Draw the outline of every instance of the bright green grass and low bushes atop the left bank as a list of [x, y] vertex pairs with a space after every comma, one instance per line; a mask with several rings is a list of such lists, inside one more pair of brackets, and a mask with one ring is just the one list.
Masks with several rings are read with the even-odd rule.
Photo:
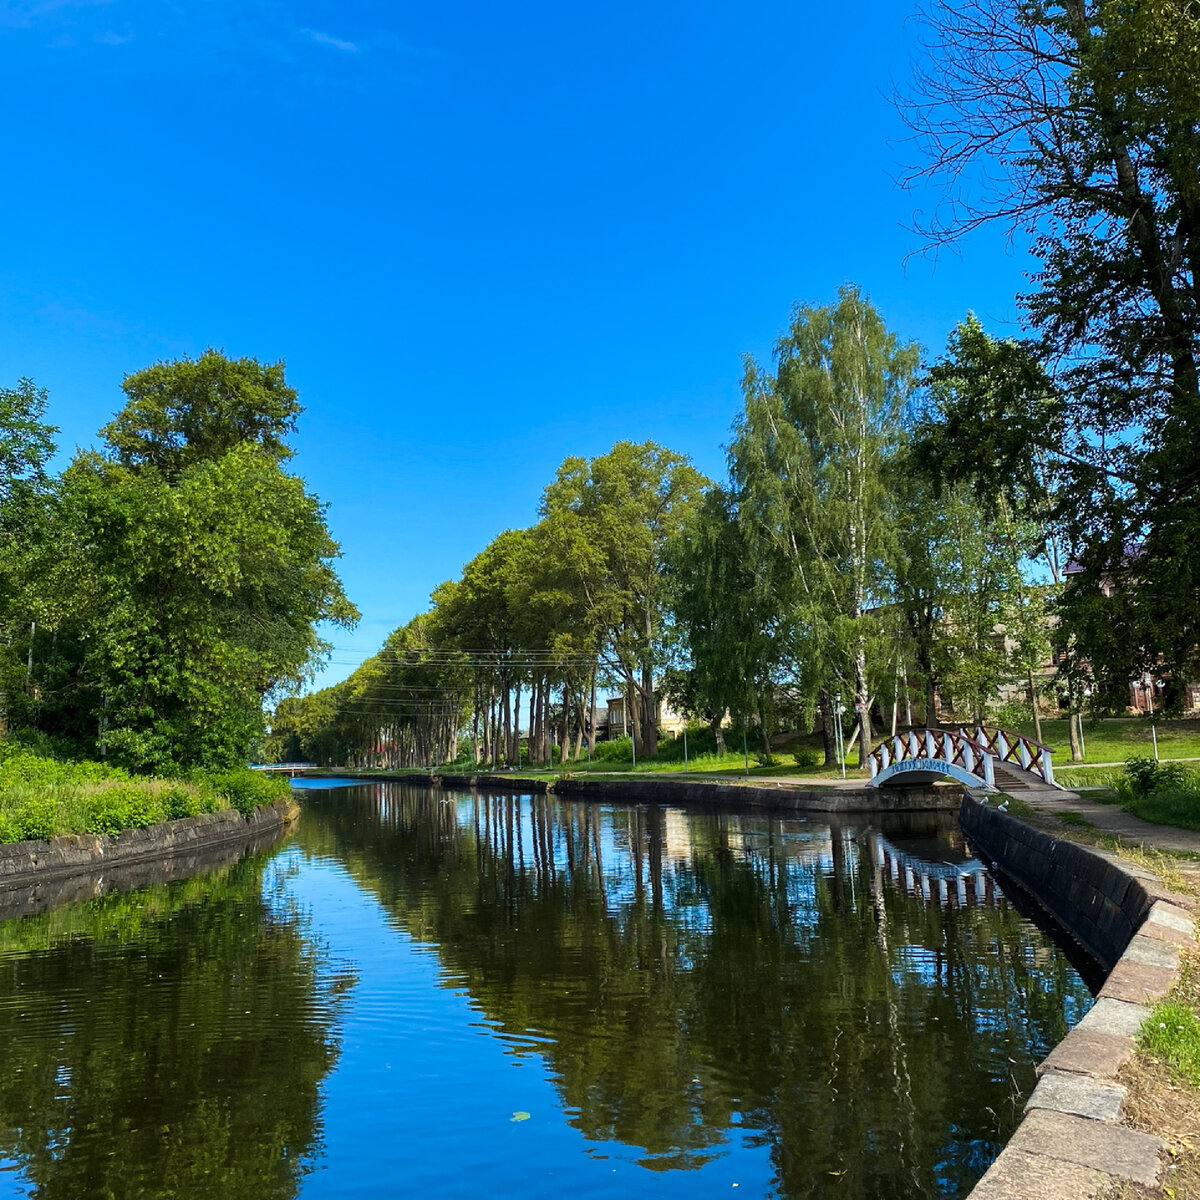
[[60, 762], [0, 742], [0, 844], [119, 834], [236, 809], [247, 820], [290, 797], [288, 781], [246, 768], [142, 778], [98, 762]]

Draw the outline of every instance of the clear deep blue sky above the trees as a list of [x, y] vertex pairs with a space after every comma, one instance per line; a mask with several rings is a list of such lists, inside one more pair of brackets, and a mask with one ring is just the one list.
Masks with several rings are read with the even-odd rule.
[[709, 474], [740, 355], [860, 284], [944, 344], [1014, 331], [1001, 230], [905, 262], [904, 0], [0, 0], [0, 383], [66, 450], [121, 377], [284, 359], [294, 467], [362, 610], [349, 673], [568, 454]]

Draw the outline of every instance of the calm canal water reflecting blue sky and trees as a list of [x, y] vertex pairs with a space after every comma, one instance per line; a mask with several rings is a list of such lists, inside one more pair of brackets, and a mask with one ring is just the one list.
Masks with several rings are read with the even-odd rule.
[[0, 1195], [959, 1196], [1091, 1003], [944, 818], [301, 799], [0, 923]]

